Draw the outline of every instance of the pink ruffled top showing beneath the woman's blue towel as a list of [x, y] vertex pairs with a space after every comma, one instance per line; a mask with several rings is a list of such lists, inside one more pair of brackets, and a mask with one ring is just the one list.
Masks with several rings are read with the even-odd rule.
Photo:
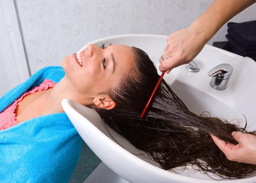
[[38, 91], [47, 90], [50, 87], [54, 87], [56, 84], [50, 80], [44, 79], [39, 86], [33, 87], [32, 90], [26, 91], [20, 98], [15, 100], [9, 107], [0, 113], [0, 130], [5, 130], [9, 127], [12, 127], [16, 124], [19, 124], [16, 118], [15, 109], [19, 101], [23, 99], [23, 97], [36, 93]]

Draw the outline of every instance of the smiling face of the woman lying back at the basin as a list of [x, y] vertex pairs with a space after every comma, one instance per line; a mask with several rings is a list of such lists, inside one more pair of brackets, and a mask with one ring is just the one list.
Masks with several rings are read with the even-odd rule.
[[108, 92], [134, 67], [132, 48], [126, 45], [88, 45], [80, 55], [82, 65], [73, 54], [63, 59], [62, 67], [76, 93], [81, 95]]

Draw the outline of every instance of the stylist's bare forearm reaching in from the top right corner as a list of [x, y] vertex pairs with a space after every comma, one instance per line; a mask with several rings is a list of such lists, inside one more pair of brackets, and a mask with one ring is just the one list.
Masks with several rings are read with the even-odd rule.
[[227, 21], [255, 2], [256, 0], [215, 0], [190, 27], [200, 32], [207, 43]]

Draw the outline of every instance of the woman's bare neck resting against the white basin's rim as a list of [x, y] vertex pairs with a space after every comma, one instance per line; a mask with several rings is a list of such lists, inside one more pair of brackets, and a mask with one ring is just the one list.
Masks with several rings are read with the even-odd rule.
[[61, 79], [61, 81], [45, 93], [45, 95], [46, 101], [44, 106], [47, 110], [51, 110], [52, 113], [64, 112], [61, 106], [61, 101], [63, 99], [71, 99], [87, 107], [90, 107], [93, 104], [93, 98], [73, 90], [72, 83], [70, 83], [66, 77]]

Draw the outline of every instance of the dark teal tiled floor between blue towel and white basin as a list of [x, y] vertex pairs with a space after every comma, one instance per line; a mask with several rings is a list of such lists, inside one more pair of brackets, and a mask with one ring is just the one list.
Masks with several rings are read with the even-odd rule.
[[99, 163], [101, 163], [101, 160], [83, 141], [79, 161], [68, 183], [83, 183]]

